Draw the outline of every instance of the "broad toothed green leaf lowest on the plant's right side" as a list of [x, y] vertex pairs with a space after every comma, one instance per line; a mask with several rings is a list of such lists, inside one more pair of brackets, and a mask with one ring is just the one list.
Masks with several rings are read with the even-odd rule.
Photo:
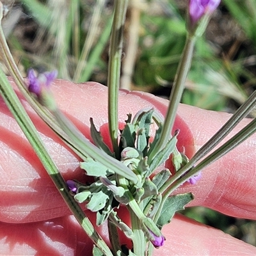
[[194, 199], [192, 193], [179, 194], [170, 196], [166, 199], [163, 209], [157, 220], [157, 226], [161, 229], [163, 225], [170, 223], [175, 212], [184, 210], [184, 206]]

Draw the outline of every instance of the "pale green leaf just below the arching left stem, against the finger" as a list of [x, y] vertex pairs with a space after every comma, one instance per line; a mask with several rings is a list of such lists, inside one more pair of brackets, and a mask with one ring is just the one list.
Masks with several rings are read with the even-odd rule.
[[106, 166], [96, 162], [91, 157], [88, 157], [86, 162], [80, 163], [80, 167], [86, 171], [88, 176], [100, 177], [107, 176], [109, 173], [113, 173], [109, 172], [109, 169]]

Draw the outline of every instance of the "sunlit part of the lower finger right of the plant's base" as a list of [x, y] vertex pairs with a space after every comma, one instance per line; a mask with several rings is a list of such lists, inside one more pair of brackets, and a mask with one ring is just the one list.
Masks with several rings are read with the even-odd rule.
[[154, 255], [255, 255], [256, 248], [221, 230], [177, 215], [163, 227], [166, 243]]

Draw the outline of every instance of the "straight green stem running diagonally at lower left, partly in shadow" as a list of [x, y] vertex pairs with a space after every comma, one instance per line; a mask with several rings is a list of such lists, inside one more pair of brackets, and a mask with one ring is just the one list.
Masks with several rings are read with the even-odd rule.
[[103, 253], [106, 253], [106, 255], [112, 255], [111, 251], [108, 248], [108, 245], [99, 236], [99, 234], [97, 234], [97, 232], [93, 228], [92, 223], [86, 217], [79, 204], [77, 204], [77, 202], [74, 200], [74, 197], [70, 195], [65, 180], [63, 179], [60, 172], [58, 171], [58, 168], [49, 156], [47, 150], [44, 147], [44, 144], [40, 139], [40, 136], [38, 135], [38, 132], [36, 131], [35, 126], [31, 122], [28, 114], [20, 103], [19, 98], [17, 97], [12, 86], [6, 79], [6, 76], [1, 68], [0, 94], [1, 97], [3, 97], [4, 99], [4, 102], [8, 106], [8, 109], [10, 109], [15, 120], [20, 125], [20, 128], [26, 135], [26, 138], [28, 138], [29, 143], [31, 143], [33, 149], [36, 152], [36, 155], [44, 165], [56, 188], [58, 188], [58, 191], [70, 208], [70, 211], [72, 211], [77, 221], [83, 227], [86, 234], [88, 234], [88, 236], [92, 239], [93, 243], [95, 243]]

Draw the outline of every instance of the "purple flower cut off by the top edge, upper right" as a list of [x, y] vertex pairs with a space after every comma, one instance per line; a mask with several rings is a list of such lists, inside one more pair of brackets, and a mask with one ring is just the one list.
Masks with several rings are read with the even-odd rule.
[[221, 0], [190, 0], [189, 1], [189, 20], [190, 26], [195, 26], [205, 14], [211, 15], [218, 7]]

